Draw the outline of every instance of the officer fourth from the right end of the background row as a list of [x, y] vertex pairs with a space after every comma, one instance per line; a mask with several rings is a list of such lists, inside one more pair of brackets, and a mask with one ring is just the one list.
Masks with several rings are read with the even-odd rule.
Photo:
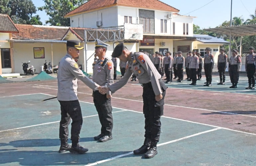
[[214, 57], [210, 53], [211, 48], [206, 47], [206, 54], [203, 58], [203, 69], [206, 77], [206, 84], [203, 86], [211, 86], [212, 81], [212, 69], [214, 67]]

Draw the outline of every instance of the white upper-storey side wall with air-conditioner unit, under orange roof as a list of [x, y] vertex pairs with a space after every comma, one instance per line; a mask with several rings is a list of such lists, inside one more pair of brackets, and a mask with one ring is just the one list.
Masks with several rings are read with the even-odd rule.
[[[101, 13], [102, 13], [102, 20], [101, 20]], [[71, 27], [78, 27], [78, 18], [79, 18], [79, 27], [81, 28], [98, 28], [96, 26], [97, 21], [102, 21], [101, 27], [117, 26], [118, 24], [117, 6], [70, 17]]]

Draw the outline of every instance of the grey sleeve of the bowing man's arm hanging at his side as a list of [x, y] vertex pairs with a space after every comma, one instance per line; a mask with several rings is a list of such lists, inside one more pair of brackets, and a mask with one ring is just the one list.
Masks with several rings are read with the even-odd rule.
[[153, 70], [154, 69], [154, 65], [150, 61], [148, 56], [145, 55], [145, 54], [140, 54], [139, 56], [141, 56], [141, 55], [143, 56], [143, 59], [142, 58], [141, 59], [137, 59], [137, 62], [139, 62], [139, 64], [147, 71], [155, 95], [162, 94], [162, 89], [161, 89], [159, 80], [156, 77], [159, 73], [157, 72], [157, 70]]

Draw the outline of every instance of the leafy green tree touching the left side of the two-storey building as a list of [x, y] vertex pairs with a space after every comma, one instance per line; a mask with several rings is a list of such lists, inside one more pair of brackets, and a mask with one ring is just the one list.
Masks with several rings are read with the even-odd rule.
[[38, 10], [47, 13], [50, 16], [46, 24], [52, 26], [70, 26], [69, 19], [65, 19], [64, 16], [87, 2], [88, 0], [44, 0], [45, 6], [39, 7]]

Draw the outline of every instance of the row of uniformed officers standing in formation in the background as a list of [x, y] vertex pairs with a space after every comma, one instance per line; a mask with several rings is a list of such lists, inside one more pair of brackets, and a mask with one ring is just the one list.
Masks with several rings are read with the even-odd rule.
[[[175, 52], [175, 56], [172, 57], [170, 51], [166, 52], [166, 56], [163, 57], [162, 53], [158, 51], [153, 54], [151, 60], [158, 70], [159, 74], [163, 77], [166, 75], [166, 82], [173, 82], [174, 79], [177, 82], [182, 83], [184, 77], [184, 69], [186, 69], [187, 78], [185, 80], [192, 81], [190, 85], [196, 85], [197, 80], [202, 79], [202, 69], [204, 69], [206, 82], [203, 86], [211, 86], [212, 82], [212, 70], [214, 67], [214, 56], [210, 52], [211, 48], [206, 47], [206, 54], [204, 58], [201, 57], [200, 52], [189, 51], [187, 57], [182, 56], [182, 51]], [[239, 81], [239, 71], [241, 71], [241, 55], [238, 53], [238, 49], [232, 50], [232, 55], [228, 59], [224, 53], [225, 49], [220, 48], [220, 54], [218, 55], [217, 69], [219, 73], [220, 82], [218, 85], [224, 85], [226, 81], [226, 68], [228, 68], [230, 82], [232, 85], [229, 88], [237, 88]], [[248, 77], [249, 86], [245, 89], [255, 89], [255, 61], [256, 55], [254, 53], [254, 47], [249, 47], [249, 54], [245, 59], [245, 70]], [[163, 68], [162, 68], [163, 67]]]

